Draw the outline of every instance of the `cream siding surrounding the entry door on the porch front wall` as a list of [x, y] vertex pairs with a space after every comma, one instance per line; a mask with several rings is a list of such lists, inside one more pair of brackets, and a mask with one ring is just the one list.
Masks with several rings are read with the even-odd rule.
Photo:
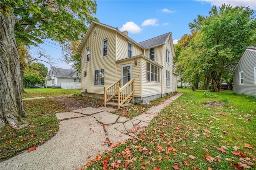
[[124, 64], [130, 64], [132, 63], [132, 78], [134, 78], [134, 95], [136, 96], [141, 96], [141, 88], [140, 88], [140, 83], [141, 83], [141, 71], [140, 71], [140, 66], [141, 62], [140, 59], [137, 59], [137, 65], [134, 64], [133, 59], [123, 61], [123, 62], [118, 62], [116, 64], [117, 68], [117, 80], [120, 80], [122, 78], [122, 65]]

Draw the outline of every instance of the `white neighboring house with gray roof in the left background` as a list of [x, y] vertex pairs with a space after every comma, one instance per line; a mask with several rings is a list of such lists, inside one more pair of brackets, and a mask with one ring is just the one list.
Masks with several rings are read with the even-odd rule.
[[52, 67], [49, 75], [46, 76], [46, 87], [58, 87], [60, 88], [61, 83], [80, 83], [80, 73], [77, 69], [61, 69]]

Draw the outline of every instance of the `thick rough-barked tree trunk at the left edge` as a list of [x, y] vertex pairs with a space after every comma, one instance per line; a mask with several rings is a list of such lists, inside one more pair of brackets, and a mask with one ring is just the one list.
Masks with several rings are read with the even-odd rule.
[[17, 125], [19, 117], [26, 113], [22, 104], [22, 80], [20, 77], [20, 55], [14, 37], [14, 25], [18, 18], [0, 14], [1, 24], [1, 68], [0, 68], [0, 128], [5, 124]]

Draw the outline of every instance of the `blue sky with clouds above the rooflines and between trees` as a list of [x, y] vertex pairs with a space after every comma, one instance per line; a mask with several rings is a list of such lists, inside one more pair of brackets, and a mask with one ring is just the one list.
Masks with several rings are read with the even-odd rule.
[[[197, 15], [207, 16], [213, 5], [230, 4], [232, 6], [249, 6], [256, 10], [255, 0], [97, 0], [95, 17], [103, 23], [119, 30], [128, 31], [128, 36], [136, 42], [142, 42], [167, 32], [172, 32], [174, 43], [182, 35], [190, 34], [188, 23]], [[40, 47], [48, 51], [56, 61], [54, 66], [70, 69], [71, 66], [61, 61], [61, 47], [44, 42]], [[52, 47], [50, 47], [50, 46]], [[48, 69], [50, 65], [45, 64]]]

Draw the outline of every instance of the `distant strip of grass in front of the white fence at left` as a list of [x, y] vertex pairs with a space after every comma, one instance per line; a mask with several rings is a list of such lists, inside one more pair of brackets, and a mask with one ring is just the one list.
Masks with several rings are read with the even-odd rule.
[[52, 89], [52, 88], [39, 88], [39, 89], [24, 89], [26, 93], [22, 93], [22, 98], [31, 97], [50, 97], [59, 95], [72, 95], [74, 93], [80, 93], [80, 90], [68, 90], [68, 89]]

